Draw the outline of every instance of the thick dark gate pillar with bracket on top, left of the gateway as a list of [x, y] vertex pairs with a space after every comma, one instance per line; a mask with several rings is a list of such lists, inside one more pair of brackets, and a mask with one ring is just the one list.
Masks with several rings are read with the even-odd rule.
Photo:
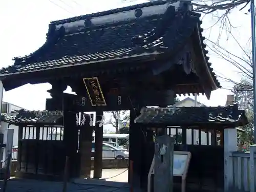
[[[48, 99], [46, 110], [63, 111], [63, 145], [65, 146], [65, 156], [69, 157], [69, 177], [79, 177], [79, 158], [78, 158], [78, 126], [76, 125], [76, 114], [78, 113], [76, 105], [73, 103], [74, 95], [63, 93], [67, 89], [65, 79], [56, 79], [50, 82], [52, 89], [47, 92], [51, 93], [52, 99]], [[65, 164], [66, 158], [59, 159]], [[63, 167], [64, 169], [65, 167]]]

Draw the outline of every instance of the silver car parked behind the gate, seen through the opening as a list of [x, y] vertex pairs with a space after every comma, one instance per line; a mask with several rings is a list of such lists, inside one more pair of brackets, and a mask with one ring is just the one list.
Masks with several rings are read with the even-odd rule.
[[[95, 151], [95, 143], [92, 143], [92, 153]], [[102, 143], [102, 158], [127, 159], [129, 152], [120, 150], [109, 143]]]

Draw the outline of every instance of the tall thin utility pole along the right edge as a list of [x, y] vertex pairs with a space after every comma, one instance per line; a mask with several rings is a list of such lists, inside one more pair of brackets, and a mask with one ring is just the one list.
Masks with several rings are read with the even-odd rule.
[[251, 0], [251, 50], [252, 50], [252, 73], [253, 73], [253, 127], [254, 143], [256, 143], [256, 53], [255, 53], [255, 6]]

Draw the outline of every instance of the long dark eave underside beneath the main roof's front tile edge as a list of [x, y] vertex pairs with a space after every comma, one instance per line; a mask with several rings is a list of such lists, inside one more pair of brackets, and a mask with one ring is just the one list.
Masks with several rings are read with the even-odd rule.
[[[137, 58], [124, 58], [111, 61], [95, 62], [91, 65], [74, 65], [70, 67], [45, 69], [40, 71], [32, 71], [27, 73], [7, 74], [0, 79], [4, 83], [7, 91], [23, 86], [27, 83], [42, 83], [52, 79], [62, 79], [67, 77], [95, 77], [102, 74], [115, 76], [117, 73], [129, 73], [145, 68], [149, 60], [154, 60], [154, 55], [141, 56]], [[48, 82], [49, 82], [48, 81]]]

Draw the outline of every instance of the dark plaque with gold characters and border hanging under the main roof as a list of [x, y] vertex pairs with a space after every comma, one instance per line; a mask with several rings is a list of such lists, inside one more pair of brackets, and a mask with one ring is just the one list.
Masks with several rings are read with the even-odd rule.
[[106, 105], [98, 77], [83, 78], [92, 106]]

